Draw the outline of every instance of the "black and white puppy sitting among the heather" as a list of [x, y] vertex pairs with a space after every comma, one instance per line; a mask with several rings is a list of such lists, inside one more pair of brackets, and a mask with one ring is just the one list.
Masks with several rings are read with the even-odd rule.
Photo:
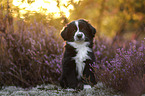
[[62, 60], [62, 88], [83, 89], [84, 84], [96, 84], [91, 65], [95, 62], [92, 50], [96, 30], [87, 21], [73, 21], [61, 32], [66, 41]]

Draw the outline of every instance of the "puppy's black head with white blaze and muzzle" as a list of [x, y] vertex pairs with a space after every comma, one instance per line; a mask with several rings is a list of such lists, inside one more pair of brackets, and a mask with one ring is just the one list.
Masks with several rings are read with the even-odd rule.
[[61, 36], [65, 41], [92, 41], [96, 29], [87, 21], [80, 19], [72, 21], [62, 30]]

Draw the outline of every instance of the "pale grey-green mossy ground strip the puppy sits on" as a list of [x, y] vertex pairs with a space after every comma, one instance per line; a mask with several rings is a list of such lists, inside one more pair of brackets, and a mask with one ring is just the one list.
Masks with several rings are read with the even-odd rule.
[[76, 91], [73, 89], [61, 89], [59, 86], [48, 84], [23, 89], [9, 86], [0, 90], [0, 96], [121, 96], [110, 88], [106, 88], [102, 83], [98, 83], [93, 88]]

